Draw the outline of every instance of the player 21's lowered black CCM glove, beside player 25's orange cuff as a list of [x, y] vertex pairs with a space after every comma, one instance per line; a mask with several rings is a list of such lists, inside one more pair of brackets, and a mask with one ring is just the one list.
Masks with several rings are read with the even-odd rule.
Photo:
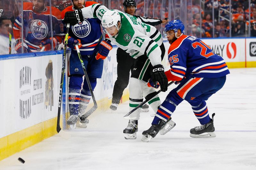
[[157, 87], [157, 82], [160, 84], [161, 91], [165, 92], [168, 87], [168, 80], [164, 74], [164, 67], [161, 64], [155, 65], [150, 70], [150, 76], [153, 81], [155, 88]]

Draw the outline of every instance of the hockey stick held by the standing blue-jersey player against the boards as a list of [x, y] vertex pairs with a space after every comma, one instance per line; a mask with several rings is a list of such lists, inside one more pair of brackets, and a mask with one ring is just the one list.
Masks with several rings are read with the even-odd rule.
[[94, 94], [93, 94], [93, 91], [92, 91], [92, 86], [91, 86], [91, 83], [90, 83], [90, 80], [89, 80], [89, 77], [88, 77], [88, 74], [86, 72], [86, 69], [85, 69], [85, 66], [84, 66], [84, 62], [82, 60], [82, 56], [81, 56], [81, 53], [79, 51], [79, 48], [78, 48], [78, 45], [76, 45], [76, 51], [77, 51], [77, 54], [78, 54], [78, 57], [79, 57], [79, 60], [81, 62], [81, 65], [83, 67], [83, 70], [84, 70], [84, 77], [86, 79], [86, 82], [89, 86], [89, 90], [91, 92], [91, 95], [92, 95], [92, 100], [93, 100], [93, 107], [87, 111], [84, 115], [82, 115], [80, 118], [81, 121], [84, 121], [88, 116], [90, 116], [97, 108], [98, 108], [98, 105], [97, 105], [97, 102], [95, 100], [95, 97], [94, 97]]

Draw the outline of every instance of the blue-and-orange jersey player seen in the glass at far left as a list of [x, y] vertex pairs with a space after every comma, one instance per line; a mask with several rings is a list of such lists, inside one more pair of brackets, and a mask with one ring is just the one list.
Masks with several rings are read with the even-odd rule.
[[[23, 3], [23, 15], [15, 19], [13, 36], [16, 40], [14, 49], [17, 53], [39, 52], [42, 46], [45, 51], [56, 50], [63, 38], [63, 24], [60, 10], [46, 6], [46, 0], [32, 0]], [[23, 18], [23, 47], [21, 42]], [[52, 25], [52, 33], [51, 33]], [[53, 36], [52, 36], [53, 35]]]

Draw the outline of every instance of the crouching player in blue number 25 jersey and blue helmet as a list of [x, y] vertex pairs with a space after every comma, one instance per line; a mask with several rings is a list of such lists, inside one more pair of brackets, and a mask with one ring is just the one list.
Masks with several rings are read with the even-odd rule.
[[168, 81], [179, 84], [166, 97], [156, 112], [152, 126], [143, 131], [142, 141], [148, 142], [160, 131], [167, 133], [175, 124], [170, 123], [176, 107], [186, 100], [191, 105], [200, 126], [190, 129], [190, 137], [215, 137], [213, 116], [209, 116], [205, 100], [219, 91], [229, 74], [223, 58], [194, 36], [184, 35], [180, 20], [172, 20], [164, 27], [164, 34], [171, 44], [168, 60], [171, 69], [165, 72]]

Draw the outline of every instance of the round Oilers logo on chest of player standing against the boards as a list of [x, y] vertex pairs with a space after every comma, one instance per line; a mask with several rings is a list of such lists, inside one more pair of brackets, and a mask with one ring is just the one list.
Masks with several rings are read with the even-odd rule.
[[77, 37], [84, 38], [91, 32], [91, 24], [84, 19], [82, 23], [72, 26], [72, 31]]

